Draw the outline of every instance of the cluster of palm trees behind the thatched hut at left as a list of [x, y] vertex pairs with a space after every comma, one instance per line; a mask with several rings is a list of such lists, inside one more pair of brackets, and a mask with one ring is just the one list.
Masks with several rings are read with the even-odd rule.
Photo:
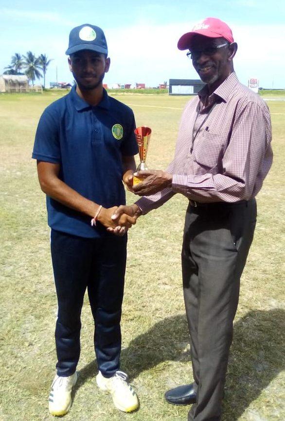
[[[44, 78], [44, 85], [46, 85], [46, 72], [49, 64], [53, 59], [48, 60], [46, 54], [40, 54], [38, 57], [32, 52], [27, 51], [26, 55], [21, 55], [16, 52], [12, 55], [11, 64], [4, 67], [7, 69], [4, 71], [4, 75], [23, 75], [25, 74], [28, 79], [32, 81], [34, 86], [34, 81], [41, 77]], [[23, 73], [24, 71], [24, 73]], [[41, 71], [43, 75], [41, 74]]]

